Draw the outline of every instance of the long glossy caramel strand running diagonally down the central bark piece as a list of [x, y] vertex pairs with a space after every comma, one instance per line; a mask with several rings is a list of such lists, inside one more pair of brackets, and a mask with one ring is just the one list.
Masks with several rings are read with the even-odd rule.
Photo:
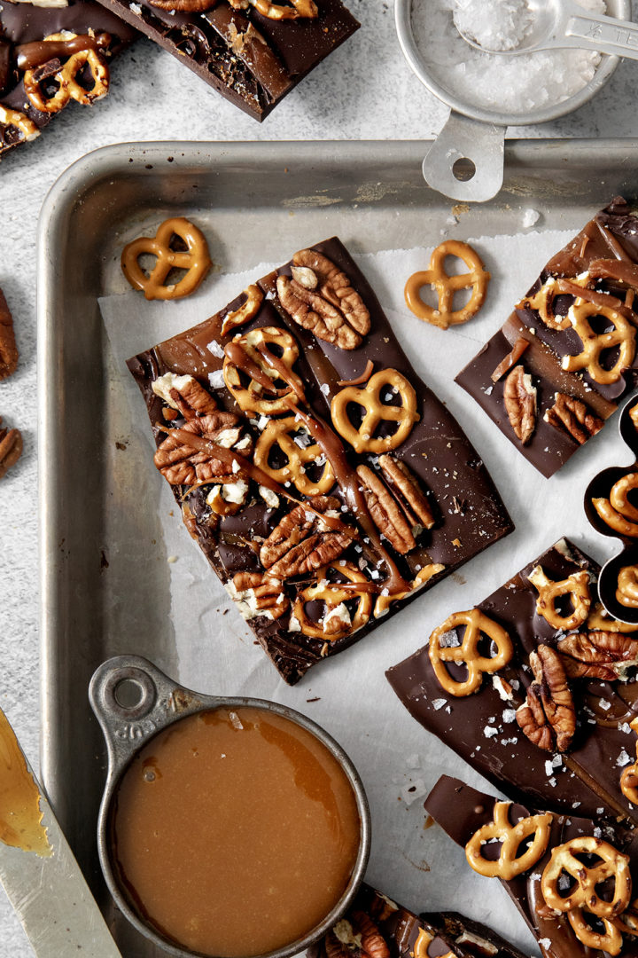
[[[233, 347], [231, 352], [229, 352], [229, 347]], [[284, 382], [289, 384], [301, 401], [305, 401], [303, 389], [301, 388], [301, 396], [299, 396], [297, 391], [296, 380], [300, 385], [300, 379], [298, 376], [293, 373], [292, 370], [285, 365], [285, 363], [278, 359], [277, 356], [272, 354], [267, 347], [264, 346], [257, 348], [259, 350], [259, 354], [264, 357], [264, 360], [268, 363], [268, 365], [278, 373]], [[263, 370], [259, 369], [251, 357], [246, 354], [243, 345], [238, 340], [229, 343], [225, 348], [225, 352], [237, 369], [246, 373], [247, 376], [252, 376], [255, 381], [260, 385], [263, 385], [265, 389], [269, 389], [270, 391], [273, 390], [273, 382], [270, 376], [264, 373]], [[256, 374], [258, 374], [258, 376]], [[398, 592], [409, 591], [411, 587], [410, 583], [407, 582], [401, 575], [401, 572], [399, 571], [394, 559], [392, 559], [392, 557], [389, 555], [383, 542], [381, 541], [381, 536], [379, 536], [379, 533], [377, 532], [377, 527], [375, 526], [372, 517], [368, 512], [359, 477], [345, 458], [341, 440], [338, 438], [335, 431], [330, 428], [327, 422], [319, 419], [319, 417], [303, 412], [301, 409], [299, 409], [297, 403], [291, 396], [285, 397], [285, 399], [291, 410], [296, 413], [301, 422], [304, 423], [308, 432], [313, 437], [317, 445], [319, 445], [319, 448], [332, 466], [337, 482], [341, 488], [341, 492], [343, 493], [346, 505], [355, 514], [357, 521], [363, 528], [363, 532], [369, 538], [377, 553], [381, 556], [381, 559], [383, 559], [385, 562], [385, 566], [387, 567], [388, 571], [388, 578], [384, 582], [384, 586], [387, 588], [388, 593], [390, 595], [394, 595]]]

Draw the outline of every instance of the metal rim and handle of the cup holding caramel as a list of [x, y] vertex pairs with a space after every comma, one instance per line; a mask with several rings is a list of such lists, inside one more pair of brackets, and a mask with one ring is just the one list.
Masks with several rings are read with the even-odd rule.
[[[121, 704], [124, 690], [131, 704]], [[137, 655], [119, 655], [104, 662], [94, 673], [89, 688], [91, 707], [99, 720], [108, 749], [108, 775], [98, 820], [98, 851], [104, 879], [113, 900], [125, 918], [165, 954], [193, 958], [201, 952], [179, 947], [156, 928], [146, 924], [122, 889], [113, 869], [109, 829], [113, 800], [121, 778], [132, 759], [146, 743], [180, 719], [216, 708], [249, 706], [290, 719], [314, 735], [341, 765], [355, 793], [361, 823], [359, 854], [348, 885], [332, 911], [301, 939], [260, 958], [290, 958], [319, 941], [347, 911], [363, 881], [370, 854], [370, 810], [357, 769], [339, 745], [319, 725], [276, 702], [244, 696], [204, 696], [178, 685], [151, 662]]]

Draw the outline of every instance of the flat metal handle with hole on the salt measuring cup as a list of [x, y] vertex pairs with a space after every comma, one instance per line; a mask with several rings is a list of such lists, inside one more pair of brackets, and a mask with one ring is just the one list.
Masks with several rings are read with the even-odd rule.
[[505, 127], [479, 123], [451, 110], [429, 148], [423, 175], [433, 190], [451, 199], [481, 203], [503, 185]]

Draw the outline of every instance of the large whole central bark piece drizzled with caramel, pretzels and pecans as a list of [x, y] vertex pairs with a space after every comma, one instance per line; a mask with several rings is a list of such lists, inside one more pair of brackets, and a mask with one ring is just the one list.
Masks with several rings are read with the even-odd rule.
[[187, 528], [288, 682], [512, 529], [338, 239], [129, 368]]

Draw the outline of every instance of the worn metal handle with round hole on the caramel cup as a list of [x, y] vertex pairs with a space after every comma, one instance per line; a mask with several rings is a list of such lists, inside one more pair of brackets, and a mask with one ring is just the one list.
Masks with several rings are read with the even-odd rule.
[[[124, 685], [129, 686], [130, 701], [119, 696]], [[202, 705], [200, 696], [139, 655], [118, 655], [103, 662], [91, 679], [89, 701], [115, 766], [164, 728], [167, 719], [185, 718]]]

